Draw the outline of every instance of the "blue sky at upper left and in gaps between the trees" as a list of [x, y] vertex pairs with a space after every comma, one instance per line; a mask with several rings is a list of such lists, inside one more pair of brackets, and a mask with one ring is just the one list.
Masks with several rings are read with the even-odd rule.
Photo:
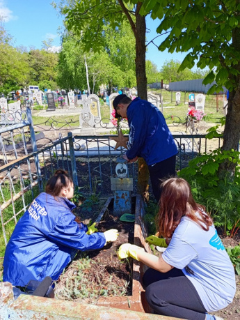
[[[50, 3], [51, 0], [0, 0], [0, 15], [5, 17], [4, 27], [13, 36], [15, 46], [41, 49], [42, 41], [47, 38], [54, 40], [54, 47], [61, 44], [58, 27], [63, 25], [62, 17], [58, 17]], [[147, 29], [149, 29], [147, 42], [157, 36], [158, 25], [159, 22], [147, 17]], [[159, 37], [154, 42], [159, 45], [161, 40], [163, 38]], [[186, 55], [159, 52], [152, 43], [147, 48], [147, 59], [155, 63], [158, 70], [165, 61], [170, 59], [182, 61]]]

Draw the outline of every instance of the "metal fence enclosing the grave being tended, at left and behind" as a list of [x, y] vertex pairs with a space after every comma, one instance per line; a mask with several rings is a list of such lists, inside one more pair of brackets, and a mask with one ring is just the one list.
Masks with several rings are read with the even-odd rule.
[[[112, 195], [111, 177], [116, 176], [115, 160], [125, 151], [122, 147], [115, 150], [113, 135], [73, 137], [72, 132], [40, 147], [35, 139], [30, 108], [18, 112], [18, 116], [8, 122], [4, 117], [6, 114], [1, 113], [0, 257], [17, 220], [44, 190], [56, 169], [67, 170], [75, 187], [86, 197], [93, 193], [109, 197]], [[205, 135], [186, 134], [173, 134], [173, 137], [179, 150], [177, 170], [186, 167], [196, 155], [221, 146], [221, 138], [207, 140]], [[136, 192], [137, 162], [129, 165], [129, 177], [134, 180]]]

